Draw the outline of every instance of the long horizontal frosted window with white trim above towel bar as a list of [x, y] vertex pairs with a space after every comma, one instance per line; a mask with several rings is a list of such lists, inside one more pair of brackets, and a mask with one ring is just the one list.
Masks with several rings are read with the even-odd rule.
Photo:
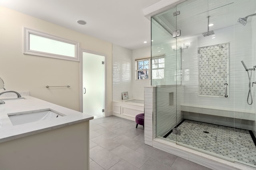
[[79, 61], [79, 43], [24, 28], [24, 54]]

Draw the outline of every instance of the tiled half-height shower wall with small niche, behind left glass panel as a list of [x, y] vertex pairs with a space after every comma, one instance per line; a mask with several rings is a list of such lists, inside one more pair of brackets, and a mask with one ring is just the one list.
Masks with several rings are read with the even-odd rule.
[[[156, 88], [156, 126], [157, 135], [163, 137], [168, 133], [175, 125], [176, 119], [179, 123], [183, 119], [181, 114], [181, 104], [183, 99], [184, 86], [166, 85], [157, 86]], [[176, 92], [178, 96], [176, 96]], [[173, 95], [170, 95], [173, 93]], [[173, 98], [172, 98], [173, 96]]]

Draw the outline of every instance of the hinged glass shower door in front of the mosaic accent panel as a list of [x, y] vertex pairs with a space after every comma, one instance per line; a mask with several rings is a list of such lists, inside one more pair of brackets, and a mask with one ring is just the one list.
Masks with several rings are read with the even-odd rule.
[[180, 11], [177, 45], [181, 47], [184, 86], [183, 122], [176, 142], [234, 161], [234, 80], [230, 80], [229, 69], [234, 3], [188, 0], [176, 8]]

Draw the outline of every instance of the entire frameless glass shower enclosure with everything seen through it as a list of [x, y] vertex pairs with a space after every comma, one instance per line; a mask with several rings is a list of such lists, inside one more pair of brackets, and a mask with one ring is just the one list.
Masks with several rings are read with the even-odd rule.
[[255, 0], [187, 0], [151, 18], [156, 137], [256, 167], [255, 13]]

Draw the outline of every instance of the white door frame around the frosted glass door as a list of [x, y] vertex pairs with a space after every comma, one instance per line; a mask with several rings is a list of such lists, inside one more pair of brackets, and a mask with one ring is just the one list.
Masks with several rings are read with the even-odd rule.
[[79, 98], [80, 98], [80, 112], [83, 113], [83, 52], [85, 53], [91, 53], [91, 54], [95, 54], [95, 55], [101, 55], [104, 57], [104, 113], [103, 113], [103, 117], [106, 117], [106, 100], [107, 100], [107, 95], [106, 95], [106, 90], [107, 90], [107, 68], [106, 68], [106, 55], [104, 54], [100, 54], [100, 53], [96, 53], [96, 52], [93, 52], [93, 51], [88, 51], [88, 50], [85, 50], [85, 49], [81, 49], [80, 50], [80, 68], [79, 68], [79, 71], [80, 71], [80, 90], [79, 90]]

